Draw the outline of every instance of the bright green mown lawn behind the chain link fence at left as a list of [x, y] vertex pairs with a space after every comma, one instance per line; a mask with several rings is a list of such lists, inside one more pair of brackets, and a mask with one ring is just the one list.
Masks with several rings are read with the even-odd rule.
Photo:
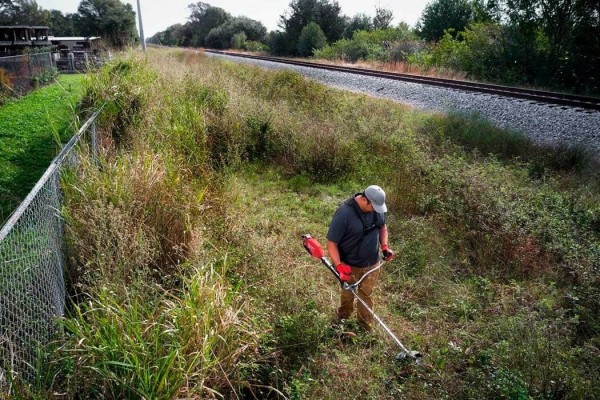
[[48, 168], [57, 142], [73, 134], [82, 81], [82, 75], [61, 75], [57, 83], [0, 107], [0, 223]]

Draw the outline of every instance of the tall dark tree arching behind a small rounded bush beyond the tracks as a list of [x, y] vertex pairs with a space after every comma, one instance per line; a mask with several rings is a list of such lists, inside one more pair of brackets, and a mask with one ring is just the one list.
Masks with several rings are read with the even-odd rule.
[[286, 53], [296, 54], [302, 29], [310, 22], [321, 27], [327, 41], [333, 43], [342, 38], [347, 18], [341, 14], [337, 1], [292, 0], [289, 11], [280, 17], [279, 26], [285, 32]]

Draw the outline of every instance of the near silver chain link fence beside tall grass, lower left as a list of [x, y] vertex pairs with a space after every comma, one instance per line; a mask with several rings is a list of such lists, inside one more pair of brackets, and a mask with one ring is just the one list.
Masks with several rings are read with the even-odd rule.
[[32, 381], [41, 346], [65, 310], [64, 227], [60, 174], [77, 158], [73, 147], [89, 136], [95, 154], [94, 113], [52, 161], [0, 230], [0, 397], [15, 376]]

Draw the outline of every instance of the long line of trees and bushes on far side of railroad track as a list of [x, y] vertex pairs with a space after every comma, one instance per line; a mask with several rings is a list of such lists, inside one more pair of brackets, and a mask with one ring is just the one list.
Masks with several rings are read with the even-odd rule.
[[405, 63], [468, 78], [600, 95], [600, 1], [432, 0], [414, 28], [392, 12], [343, 14], [335, 0], [292, 0], [267, 32], [198, 2], [184, 24], [148, 42], [280, 56]]

